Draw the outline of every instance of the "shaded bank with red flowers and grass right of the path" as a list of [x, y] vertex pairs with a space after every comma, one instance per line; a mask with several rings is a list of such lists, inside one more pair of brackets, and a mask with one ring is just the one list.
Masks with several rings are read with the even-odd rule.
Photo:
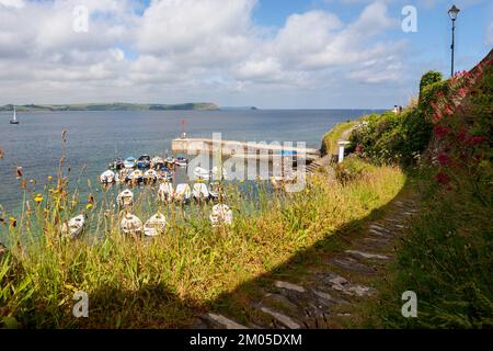
[[[367, 326], [493, 327], [492, 91], [492, 54], [471, 72], [424, 87], [420, 110], [433, 134], [419, 170], [422, 208]], [[405, 291], [417, 294], [417, 318], [401, 315]]]

